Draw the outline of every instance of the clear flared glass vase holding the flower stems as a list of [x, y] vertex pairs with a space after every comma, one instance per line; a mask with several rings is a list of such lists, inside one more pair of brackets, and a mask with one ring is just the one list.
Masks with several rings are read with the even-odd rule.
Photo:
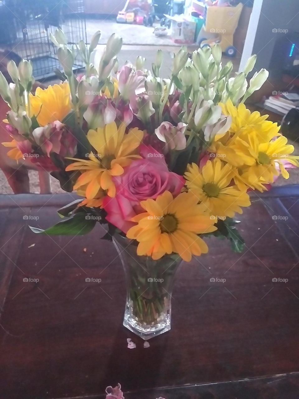
[[164, 255], [154, 261], [138, 256], [136, 241], [118, 234], [113, 243], [126, 275], [124, 326], [144, 340], [170, 330], [171, 296], [181, 257]]

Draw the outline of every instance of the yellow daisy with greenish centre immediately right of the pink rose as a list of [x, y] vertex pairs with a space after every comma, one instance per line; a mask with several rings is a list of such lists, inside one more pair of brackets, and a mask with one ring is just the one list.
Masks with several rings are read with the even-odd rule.
[[216, 158], [208, 161], [202, 170], [197, 164], [187, 166], [186, 185], [195, 194], [211, 215], [233, 217], [235, 212], [242, 213], [241, 206], [249, 206], [250, 199], [246, 191], [230, 186], [232, 167]]

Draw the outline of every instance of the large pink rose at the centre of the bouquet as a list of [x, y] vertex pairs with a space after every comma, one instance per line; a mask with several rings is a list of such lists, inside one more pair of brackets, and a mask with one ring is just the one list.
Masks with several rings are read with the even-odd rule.
[[144, 211], [140, 201], [155, 199], [164, 191], [176, 197], [185, 184], [182, 176], [169, 172], [163, 154], [153, 147], [141, 144], [140, 154], [143, 159], [133, 161], [124, 174], [114, 177], [116, 196], [103, 202], [106, 219], [124, 233], [135, 225], [132, 217]]

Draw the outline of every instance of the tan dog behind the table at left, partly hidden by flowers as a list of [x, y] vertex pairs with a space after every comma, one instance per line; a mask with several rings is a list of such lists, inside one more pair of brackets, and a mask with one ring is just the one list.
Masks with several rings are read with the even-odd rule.
[[[9, 51], [0, 51], [0, 70], [10, 82], [10, 76], [7, 72], [7, 63], [13, 59], [16, 64], [20, 62], [20, 57]], [[36, 87], [45, 87], [39, 82], [35, 82], [32, 90]], [[8, 105], [0, 97], [0, 168], [2, 169], [8, 184], [12, 188], [14, 194], [30, 193], [28, 170], [37, 170], [39, 174], [39, 187], [41, 194], [51, 194], [50, 176], [46, 171], [38, 170], [30, 160], [21, 159], [18, 162], [7, 156], [10, 148], [4, 147], [1, 143], [11, 141], [12, 138], [5, 128], [3, 119], [6, 119], [6, 113], [9, 111]]]

